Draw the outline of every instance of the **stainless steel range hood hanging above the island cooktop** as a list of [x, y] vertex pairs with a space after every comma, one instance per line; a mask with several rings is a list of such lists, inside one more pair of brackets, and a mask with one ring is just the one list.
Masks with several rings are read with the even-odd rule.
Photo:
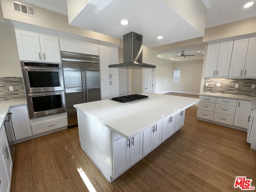
[[142, 35], [130, 32], [124, 35], [124, 62], [109, 65], [110, 68], [146, 69], [155, 65], [142, 63]]

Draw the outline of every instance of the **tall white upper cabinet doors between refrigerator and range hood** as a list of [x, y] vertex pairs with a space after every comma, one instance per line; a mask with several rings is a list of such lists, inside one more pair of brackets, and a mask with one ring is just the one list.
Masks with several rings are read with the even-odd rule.
[[100, 46], [100, 79], [118, 79], [118, 68], [108, 68], [110, 64], [118, 64], [118, 49]]

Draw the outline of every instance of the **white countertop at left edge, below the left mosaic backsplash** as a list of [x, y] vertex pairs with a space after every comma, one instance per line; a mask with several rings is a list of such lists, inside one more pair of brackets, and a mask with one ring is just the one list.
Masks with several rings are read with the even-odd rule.
[[0, 128], [4, 124], [4, 118], [10, 107], [23, 106], [27, 104], [26, 99], [6, 100], [0, 102]]

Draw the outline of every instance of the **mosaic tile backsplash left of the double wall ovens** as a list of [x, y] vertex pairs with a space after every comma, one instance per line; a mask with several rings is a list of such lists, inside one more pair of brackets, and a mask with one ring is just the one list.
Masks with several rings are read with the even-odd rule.
[[[13, 86], [14, 91], [9, 90]], [[26, 99], [22, 77], [0, 77], [0, 101]]]

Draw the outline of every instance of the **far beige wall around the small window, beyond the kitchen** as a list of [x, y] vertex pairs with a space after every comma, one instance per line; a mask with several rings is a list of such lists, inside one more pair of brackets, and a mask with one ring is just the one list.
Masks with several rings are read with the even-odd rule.
[[200, 93], [203, 60], [174, 62], [172, 69], [180, 69], [180, 83], [172, 83], [172, 92]]

